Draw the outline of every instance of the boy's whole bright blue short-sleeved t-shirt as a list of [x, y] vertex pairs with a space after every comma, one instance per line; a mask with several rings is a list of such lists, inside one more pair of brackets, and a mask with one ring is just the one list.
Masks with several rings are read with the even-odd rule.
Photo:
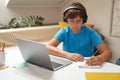
[[84, 25], [77, 34], [74, 34], [68, 26], [60, 29], [54, 37], [60, 43], [63, 42], [64, 51], [78, 53], [84, 57], [92, 56], [95, 47], [103, 43], [103, 40], [95, 30]]

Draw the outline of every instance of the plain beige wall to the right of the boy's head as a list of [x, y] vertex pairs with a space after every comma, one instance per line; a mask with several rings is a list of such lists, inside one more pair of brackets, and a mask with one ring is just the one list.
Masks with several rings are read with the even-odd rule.
[[[110, 36], [112, 22], [112, 4], [113, 0], [73, 0], [79, 1], [87, 8], [88, 23], [95, 24], [95, 29], [105, 35], [105, 42], [110, 47], [114, 62], [120, 57], [120, 37]], [[68, 3], [69, 4], [69, 3]], [[61, 11], [68, 5], [61, 8]], [[62, 13], [61, 13], [62, 14]]]

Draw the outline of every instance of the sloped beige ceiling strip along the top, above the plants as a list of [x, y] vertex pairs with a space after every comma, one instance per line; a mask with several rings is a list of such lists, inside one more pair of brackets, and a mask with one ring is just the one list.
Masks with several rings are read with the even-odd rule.
[[69, 0], [5, 0], [6, 7], [62, 7]]

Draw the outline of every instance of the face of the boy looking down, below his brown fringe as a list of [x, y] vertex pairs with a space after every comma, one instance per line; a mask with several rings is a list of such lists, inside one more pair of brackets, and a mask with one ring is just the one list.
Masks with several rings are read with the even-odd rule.
[[83, 18], [80, 18], [79, 16], [74, 19], [68, 18], [67, 22], [72, 29], [80, 29], [83, 24]]

